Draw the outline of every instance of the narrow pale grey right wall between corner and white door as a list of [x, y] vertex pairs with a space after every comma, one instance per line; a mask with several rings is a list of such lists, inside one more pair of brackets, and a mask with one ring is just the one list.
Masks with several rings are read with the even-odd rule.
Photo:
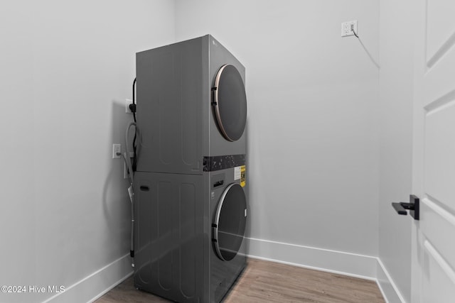
[[[391, 202], [408, 202], [412, 182], [412, 0], [380, 1], [380, 233], [379, 255], [402, 299], [411, 294], [410, 216]], [[400, 302], [389, 280], [380, 279], [390, 302]]]

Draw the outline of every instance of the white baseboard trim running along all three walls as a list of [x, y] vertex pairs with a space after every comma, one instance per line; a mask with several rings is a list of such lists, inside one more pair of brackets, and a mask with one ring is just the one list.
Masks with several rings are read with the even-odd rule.
[[[387, 303], [406, 303], [380, 258], [257, 238], [245, 238], [244, 243], [248, 258], [373, 280]], [[43, 303], [93, 302], [132, 273], [131, 260], [127, 254], [66, 287], [65, 292], [55, 294]]]

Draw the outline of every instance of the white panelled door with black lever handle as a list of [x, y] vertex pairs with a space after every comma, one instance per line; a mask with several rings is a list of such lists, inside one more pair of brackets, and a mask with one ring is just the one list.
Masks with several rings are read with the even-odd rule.
[[455, 302], [455, 1], [416, 1], [412, 302]]

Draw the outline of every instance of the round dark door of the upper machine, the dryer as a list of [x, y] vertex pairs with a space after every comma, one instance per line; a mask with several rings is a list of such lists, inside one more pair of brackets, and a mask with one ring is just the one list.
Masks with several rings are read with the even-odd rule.
[[247, 123], [247, 95], [242, 76], [234, 65], [223, 65], [215, 77], [213, 108], [221, 133], [228, 141], [237, 141]]

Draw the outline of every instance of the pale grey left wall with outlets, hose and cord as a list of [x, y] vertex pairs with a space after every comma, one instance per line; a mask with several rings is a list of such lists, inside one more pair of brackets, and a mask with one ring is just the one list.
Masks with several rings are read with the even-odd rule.
[[64, 285], [60, 301], [87, 302], [131, 271], [128, 183], [112, 143], [124, 145], [132, 121], [135, 53], [172, 43], [173, 18], [166, 0], [1, 6], [0, 285]]

